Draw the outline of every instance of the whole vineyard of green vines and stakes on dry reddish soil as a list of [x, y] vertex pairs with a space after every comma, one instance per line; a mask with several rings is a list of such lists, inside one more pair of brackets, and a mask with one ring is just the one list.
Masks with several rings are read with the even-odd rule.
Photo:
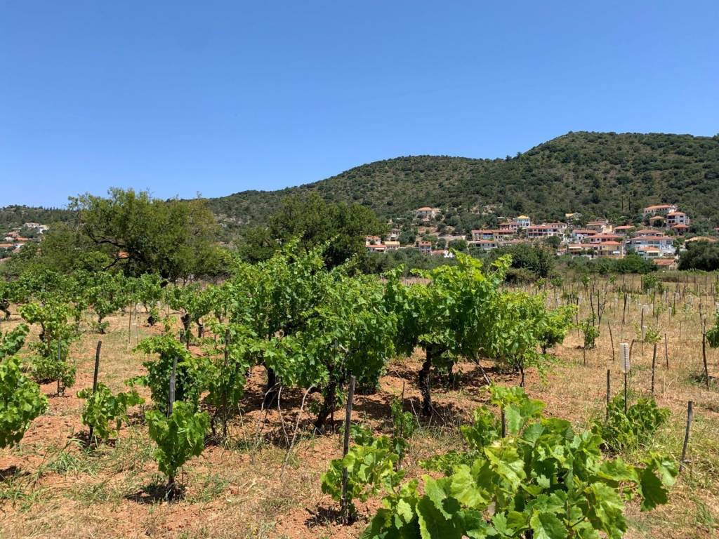
[[719, 280], [0, 282], [3, 538], [710, 538]]

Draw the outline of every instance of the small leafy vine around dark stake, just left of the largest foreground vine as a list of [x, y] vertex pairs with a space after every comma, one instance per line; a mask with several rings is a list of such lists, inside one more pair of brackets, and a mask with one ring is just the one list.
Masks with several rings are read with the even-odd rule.
[[339, 502], [342, 499], [342, 473], [347, 468], [347, 506], [350, 517], [357, 514], [354, 500], [366, 502], [380, 489], [392, 489], [404, 477], [403, 471], [395, 471], [397, 454], [388, 436], [371, 436], [366, 430], [354, 430], [359, 434], [357, 444], [349, 448], [342, 459], [333, 459], [329, 469], [322, 474], [322, 492]]

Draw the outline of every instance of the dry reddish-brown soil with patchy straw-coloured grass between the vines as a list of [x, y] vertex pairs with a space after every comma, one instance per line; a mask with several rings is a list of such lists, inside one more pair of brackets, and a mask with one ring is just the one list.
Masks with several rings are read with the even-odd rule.
[[[603, 282], [602, 286], [610, 285]], [[557, 292], [549, 292], [548, 302], [554, 305], [556, 297]], [[612, 392], [623, 388], [614, 359], [618, 343], [637, 338], [641, 305], [651, 303], [647, 295], [631, 298], [626, 323], [622, 323], [620, 296], [606, 293], [605, 299], [596, 348], [582, 351], [580, 335], [572, 330], [554, 350], [557, 361], [546, 377], [531, 371], [526, 379], [528, 394], [547, 403], [546, 413], [571, 420], [580, 428], [603, 414], [607, 369]], [[706, 390], [696, 381], [703, 372], [700, 310], [709, 313], [708, 323], [713, 323], [714, 309], [712, 296], [687, 293], [677, 300], [673, 316], [664, 309], [658, 319], [648, 315], [645, 321], [659, 326], [662, 336], [666, 333], [669, 361], [667, 368], [662, 340], [656, 361], [656, 399], [672, 415], [656, 436], [653, 449], [678, 459], [689, 400], [694, 402], [695, 420], [690, 462], [669, 504], [649, 513], [630, 505], [628, 538], [719, 536], [719, 388], [713, 382]], [[11, 321], [0, 326], [3, 331], [19, 322], [17, 310], [13, 312]], [[583, 298], [580, 320], [588, 313], [587, 298]], [[152, 460], [141, 409], [134, 410], [131, 424], [122, 428], [116, 441], [94, 450], [83, 447], [82, 400], [75, 394], [91, 386], [96, 343], [99, 338], [103, 341], [101, 382], [114, 391], [122, 390], [124, 379], [143, 372], [145, 356], [134, 352], [134, 345], [159, 331], [143, 322], [142, 317], [130, 321], [127, 315], [117, 315], [110, 319], [108, 334], [86, 331], [73, 346], [78, 366], [75, 386], [64, 397], [55, 395], [54, 384], [42, 386], [50, 399], [47, 413], [32, 423], [19, 446], [0, 451], [0, 538], [357, 538], [378, 506], [377, 499], [359, 504], [359, 521], [343, 526], [336, 522], [336, 503], [320, 489], [321, 473], [330, 459], [342, 453], [338, 430], [342, 412], [335, 414], [334, 432], [321, 435], [310, 428], [311, 414], [300, 413], [301, 390], [283, 390], [280, 408], [262, 412], [265, 376], [261, 368], [252, 372], [242, 411], [230, 428], [230, 441], [208, 446], [184, 467], [180, 479], [186, 484], [186, 494], [180, 501], [168, 503], [158, 495], [163, 479]], [[37, 338], [37, 333], [30, 338]], [[405, 409], [418, 408], [419, 353], [393, 361], [375, 394], [357, 395], [354, 421], [387, 431], [390, 401], [403, 388]], [[718, 351], [707, 347], [712, 376], [719, 375], [718, 357]], [[629, 379], [634, 395], [649, 394], [651, 359], [652, 346], [635, 342]], [[493, 381], [518, 384], [517, 375], [500, 374], [490, 362], [482, 365]], [[457, 427], [486, 401], [480, 369], [463, 363], [457, 370], [462, 375], [453, 387], [442, 385], [441, 380], [434, 384], [437, 413], [422, 420], [411, 440], [406, 458], [410, 477], [423, 474], [419, 460], [459, 447]], [[288, 451], [288, 441], [296, 432], [296, 443]]]

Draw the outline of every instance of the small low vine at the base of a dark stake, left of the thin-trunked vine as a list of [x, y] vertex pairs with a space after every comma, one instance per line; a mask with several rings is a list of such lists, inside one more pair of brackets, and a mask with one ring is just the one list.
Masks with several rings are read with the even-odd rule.
[[97, 384], [95, 392], [91, 387], [78, 391], [78, 397], [85, 399], [83, 424], [92, 427], [95, 435], [103, 440], [117, 436], [122, 422], [127, 420], [129, 407], [145, 402], [136, 391], [113, 395], [103, 383]]

